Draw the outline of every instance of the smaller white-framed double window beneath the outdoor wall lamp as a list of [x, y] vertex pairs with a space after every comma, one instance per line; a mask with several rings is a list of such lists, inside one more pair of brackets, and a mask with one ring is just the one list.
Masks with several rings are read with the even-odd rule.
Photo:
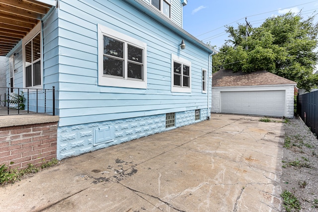
[[191, 62], [171, 55], [171, 92], [191, 93]]

